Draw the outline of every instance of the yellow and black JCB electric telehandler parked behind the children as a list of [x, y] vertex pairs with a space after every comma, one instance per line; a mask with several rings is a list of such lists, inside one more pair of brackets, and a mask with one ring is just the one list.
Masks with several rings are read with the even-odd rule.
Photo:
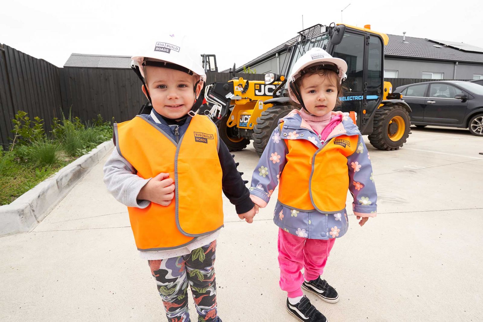
[[363, 135], [369, 135], [374, 147], [398, 150], [410, 133], [411, 108], [399, 93], [392, 93], [391, 83], [384, 82], [388, 36], [365, 27], [312, 26], [298, 32], [297, 42], [287, 49], [282, 75], [267, 73], [264, 81], [234, 78], [207, 85], [205, 99], [214, 107], [212, 117], [228, 149], [239, 151], [253, 140], [257, 154], [262, 154], [278, 120], [296, 108], [289, 104], [284, 75], [298, 57], [320, 47], [348, 65], [347, 91], [338, 110], [355, 112], [357, 126]]

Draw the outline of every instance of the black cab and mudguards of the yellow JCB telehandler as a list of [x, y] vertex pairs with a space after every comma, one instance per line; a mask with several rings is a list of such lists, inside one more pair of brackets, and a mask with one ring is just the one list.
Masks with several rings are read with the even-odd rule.
[[[331, 24], [324, 26], [314, 25], [298, 32], [298, 41], [287, 51], [282, 66], [282, 74], [289, 75], [297, 59], [313, 47], [327, 51], [331, 56], [341, 58], [347, 62], [347, 79], [343, 82], [344, 93], [340, 97], [342, 105], [336, 110], [342, 112], [354, 111], [357, 113], [357, 126], [362, 134], [373, 132], [373, 117], [378, 106], [383, 103], [384, 97], [384, 41], [378, 34], [364, 30], [346, 27], [345, 25]], [[287, 58], [288, 57], [288, 58]], [[284, 86], [284, 88], [282, 88]], [[285, 82], [279, 86], [282, 89], [280, 96], [287, 96]], [[276, 104], [286, 103], [286, 98], [277, 98], [266, 101]], [[392, 104], [409, 106], [395, 95]], [[365, 113], [363, 113], [365, 111]]]

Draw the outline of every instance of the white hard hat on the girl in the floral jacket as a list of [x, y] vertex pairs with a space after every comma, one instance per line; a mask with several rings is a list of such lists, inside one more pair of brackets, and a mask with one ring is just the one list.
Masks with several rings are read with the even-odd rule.
[[347, 75], [345, 74], [347, 72], [347, 63], [345, 62], [345, 60], [341, 58], [334, 58], [330, 56], [329, 53], [327, 53], [324, 49], [314, 47], [297, 59], [294, 67], [292, 68], [292, 72], [288, 76], [288, 95], [295, 102], [300, 103], [296, 95], [294, 95], [292, 88], [293, 83], [296, 79], [302, 76], [302, 71], [305, 68], [315, 65], [324, 65], [326, 69], [334, 70], [335, 72], [337, 72], [340, 82], [347, 78]]

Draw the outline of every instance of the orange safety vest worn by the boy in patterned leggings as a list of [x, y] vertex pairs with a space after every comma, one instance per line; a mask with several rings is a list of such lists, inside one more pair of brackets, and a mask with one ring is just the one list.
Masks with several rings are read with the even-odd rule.
[[166, 250], [223, 226], [222, 169], [217, 128], [195, 115], [178, 145], [155, 123], [138, 115], [114, 124], [116, 148], [143, 179], [169, 173], [175, 198], [169, 206], [151, 202], [144, 209], [128, 207], [139, 250]]

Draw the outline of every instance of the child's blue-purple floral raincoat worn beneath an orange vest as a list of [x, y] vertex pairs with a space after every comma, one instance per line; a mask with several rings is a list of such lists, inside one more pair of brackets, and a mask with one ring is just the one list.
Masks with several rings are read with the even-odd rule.
[[[341, 162], [337, 164], [344, 168], [347, 167], [347, 169], [344, 170], [339, 168], [337, 169], [339, 170], [337, 172], [348, 173], [349, 178], [345, 177], [345, 175], [343, 175], [345, 178], [336, 176], [335, 179], [330, 179], [329, 182], [332, 182], [334, 186], [337, 184], [340, 186], [341, 182], [349, 182], [347, 188], [354, 197], [352, 205], [354, 214], [361, 217], [376, 216], [377, 194], [367, 147], [359, 129], [346, 113], [332, 112], [332, 119], [336, 117], [338, 117], [340, 121], [333, 120], [336, 122], [330, 122], [329, 126], [332, 124], [331, 128], [333, 129], [328, 135], [326, 134], [326, 140], [324, 140], [324, 132], [322, 133], [322, 136], [317, 135], [312, 130], [311, 126], [300, 117], [297, 110], [290, 112], [279, 121], [279, 126], [277, 126], [271, 134], [267, 147], [260, 157], [260, 161], [252, 176], [250, 196], [254, 202], [262, 208], [267, 205], [273, 190], [276, 188], [281, 176], [283, 176], [282, 173], [287, 165], [287, 159], [293, 160], [294, 157], [296, 157], [295, 155], [292, 157], [289, 154], [287, 145], [288, 140], [296, 140], [295, 142], [297, 142], [297, 144], [305, 144], [305, 146], [308, 144], [307, 142], [310, 142], [311, 149], [315, 151], [313, 159], [310, 160], [307, 158], [306, 164], [298, 163], [297, 166], [307, 167], [307, 169], [303, 169], [305, 172], [302, 173], [310, 173], [310, 182], [313, 183], [314, 181], [321, 181], [322, 179], [327, 178], [313, 178], [312, 175], [314, 174], [313, 169], [315, 165], [312, 165], [312, 163], [315, 164], [321, 160], [331, 162], [320, 158], [329, 157], [326, 150], [331, 143], [332, 146], [334, 146], [334, 144], [345, 144], [344, 142], [348, 142], [347, 140], [337, 139], [338, 137], [344, 138], [342, 136], [345, 136], [345, 138], [349, 137], [351, 141], [357, 142], [354, 153], [346, 156], [344, 155], [343, 159], [341, 159], [340, 156], [338, 157], [338, 160], [343, 160], [343, 164]], [[283, 126], [281, 128], [282, 123]], [[337, 126], [334, 127], [334, 124], [337, 124]], [[288, 143], [293, 144], [294, 141]], [[314, 147], [312, 147], [312, 145]], [[326, 150], [324, 148], [326, 148]], [[331, 153], [333, 157], [333, 151]], [[318, 173], [320, 173], [320, 170]], [[326, 173], [322, 173], [322, 176], [330, 177], [330, 173], [327, 173], [326, 171]], [[300, 181], [304, 180], [308, 182], [309, 178], [300, 178]], [[335, 180], [339, 182], [334, 182]], [[284, 185], [286, 184], [284, 183]], [[347, 188], [339, 190], [345, 191], [347, 194]], [[343, 209], [341, 210], [324, 211], [323, 209], [318, 208], [314, 203], [313, 200], [315, 197], [313, 197], [313, 193], [317, 194], [317, 191], [313, 192], [313, 187], [311, 189], [312, 191], [310, 191], [309, 200], [312, 200], [312, 207], [310, 207], [310, 210], [302, 210], [294, 205], [281, 202], [281, 199], [287, 199], [281, 195], [289, 193], [296, 194], [297, 196], [302, 194], [308, 196], [307, 191], [300, 192], [296, 191], [296, 189], [287, 189], [287, 187], [284, 187], [284, 189], [281, 188], [275, 206], [273, 222], [286, 232], [299, 237], [313, 239], [342, 237], [348, 229], [348, 218], [345, 205], [342, 206]], [[324, 187], [323, 190], [326, 192], [330, 191], [330, 187]], [[323, 194], [326, 194], [326, 192]], [[345, 200], [346, 196], [338, 196], [338, 198], [343, 198], [343, 200]]]

